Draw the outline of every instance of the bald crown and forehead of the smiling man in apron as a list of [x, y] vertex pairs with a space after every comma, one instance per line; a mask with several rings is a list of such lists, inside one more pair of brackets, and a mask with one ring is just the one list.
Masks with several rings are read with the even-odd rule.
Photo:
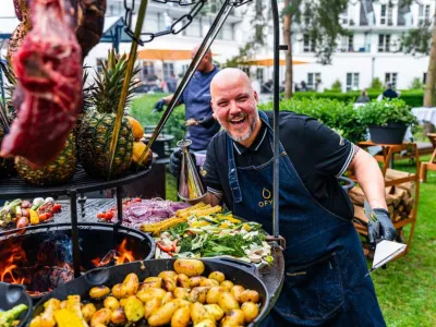
[[253, 95], [252, 81], [243, 71], [234, 68], [219, 71], [210, 82], [210, 96], [214, 97], [226, 88], [244, 87]]

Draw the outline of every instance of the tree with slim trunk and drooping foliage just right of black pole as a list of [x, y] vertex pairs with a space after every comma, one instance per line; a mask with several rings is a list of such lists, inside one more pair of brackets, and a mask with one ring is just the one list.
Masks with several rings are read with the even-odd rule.
[[292, 96], [292, 23], [308, 39], [317, 61], [322, 64], [331, 63], [331, 55], [337, 48], [339, 36], [349, 35], [340, 22], [339, 15], [347, 10], [348, 0], [284, 0], [283, 39], [289, 50], [286, 56], [284, 97]]

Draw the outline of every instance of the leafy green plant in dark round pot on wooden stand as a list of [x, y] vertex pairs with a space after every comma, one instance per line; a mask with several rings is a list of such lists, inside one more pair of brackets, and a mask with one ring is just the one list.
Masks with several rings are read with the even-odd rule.
[[405, 131], [417, 126], [410, 107], [401, 99], [372, 101], [358, 109], [358, 119], [370, 129], [371, 140], [379, 144], [401, 144]]

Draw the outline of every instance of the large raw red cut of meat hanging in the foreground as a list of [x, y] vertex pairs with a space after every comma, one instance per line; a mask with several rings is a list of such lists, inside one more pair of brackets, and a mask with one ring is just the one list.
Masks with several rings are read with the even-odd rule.
[[68, 0], [33, 0], [33, 29], [14, 55], [24, 93], [19, 117], [3, 140], [0, 156], [20, 156], [35, 167], [62, 150], [82, 105], [82, 52]]

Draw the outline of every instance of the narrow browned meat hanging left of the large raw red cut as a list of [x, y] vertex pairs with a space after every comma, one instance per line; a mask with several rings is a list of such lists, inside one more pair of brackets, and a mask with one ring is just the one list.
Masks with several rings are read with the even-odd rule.
[[10, 62], [12, 62], [13, 55], [20, 48], [21, 44], [24, 40], [24, 37], [32, 27], [28, 0], [14, 0], [14, 8], [16, 17], [20, 20], [20, 24], [19, 26], [16, 26], [15, 31], [12, 33], [11, 38], [9, 39], [7, 58]]

